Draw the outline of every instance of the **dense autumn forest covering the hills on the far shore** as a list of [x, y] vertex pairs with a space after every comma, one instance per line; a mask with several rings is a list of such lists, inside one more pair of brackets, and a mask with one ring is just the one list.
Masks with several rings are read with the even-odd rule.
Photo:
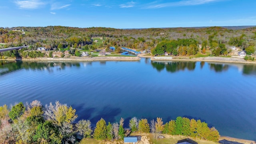
[[[22, 31], [25, 34], [22, 34]], [[103, 37], [104, 42], [96, 45], [92, 38]], [[29, 45], [28, 50], [45, 47], [48, 50], [58, 48], [92, 49], [127, 47], [139, 51], [150, 51], [152, 54], [171, 56], [190, 56], [199, 51], [210, 51], [211, 55], [227, 55], [230, 46], [255, 54], [256, 27], [228, 29], [223, 27], [205, 28], [148, 28], [148, 29], [115, 29], [115, 28], [73, 28], [64, 26], [0, 28], [0, 42], [10, 46]], [[199, 46], [200, 45], [200, 46]], [[11, 55], [11, 54], [9, 54]]]

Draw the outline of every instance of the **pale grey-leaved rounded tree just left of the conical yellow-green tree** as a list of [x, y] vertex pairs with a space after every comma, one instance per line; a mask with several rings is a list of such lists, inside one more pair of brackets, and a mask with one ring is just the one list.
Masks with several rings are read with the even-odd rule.
[[79, 122], [76, 124], [76, 128], [79, 134], [85, 138], [90, 137], [92, 133], [90, 120], [79, 120]]

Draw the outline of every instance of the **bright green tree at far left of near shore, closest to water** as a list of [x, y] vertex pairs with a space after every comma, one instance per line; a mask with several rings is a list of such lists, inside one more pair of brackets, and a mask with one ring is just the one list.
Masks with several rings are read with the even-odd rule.
[[9, 112], [9, 117], [12, 120], [15, 120], [16, 118], [20, 117], [25, 112], [25, 106], [22, 102], [19, 102], [15, 106], [12, 107], [12, 110]]

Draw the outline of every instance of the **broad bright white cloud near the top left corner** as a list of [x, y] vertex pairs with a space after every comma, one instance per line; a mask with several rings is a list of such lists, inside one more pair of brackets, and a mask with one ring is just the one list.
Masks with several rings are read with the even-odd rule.
[[19, 8], [22, 9], [36, 9], [45, 5], [45, 3], [41, 2], [41, 0], [16, 0], [14, 2]]

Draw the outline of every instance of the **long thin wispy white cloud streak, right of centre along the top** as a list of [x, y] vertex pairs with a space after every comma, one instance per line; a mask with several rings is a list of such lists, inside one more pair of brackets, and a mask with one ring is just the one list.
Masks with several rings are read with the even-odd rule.
[[148, 4], [145, 8], [152, 9], [152, 8], [165, 8], [165, 7], [172, 7], [172, 6], [194, 6], [194, 5], [202, 5], [208, 4], [210, 2], [218, 2], [224, 0], [181, 0], [179, 2], [167, 2], [162, 4], [157, 4], [157, 2], [152, 2]]

